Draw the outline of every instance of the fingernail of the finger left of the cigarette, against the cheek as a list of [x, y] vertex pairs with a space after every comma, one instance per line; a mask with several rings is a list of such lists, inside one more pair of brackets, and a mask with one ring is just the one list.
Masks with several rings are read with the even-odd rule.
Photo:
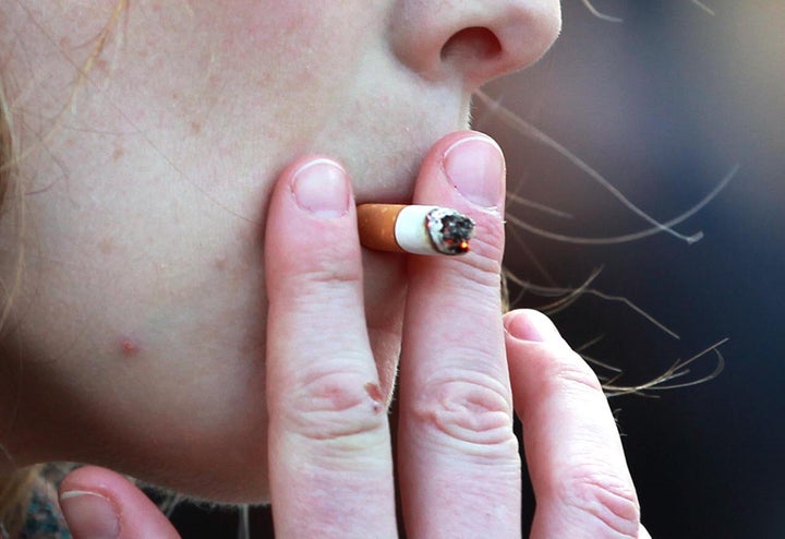
[[291, 190], [298, 206], [316, 217], [333, 219], [349, 212], [349, 179], [329, 159], [315, 159], [295, 171]]

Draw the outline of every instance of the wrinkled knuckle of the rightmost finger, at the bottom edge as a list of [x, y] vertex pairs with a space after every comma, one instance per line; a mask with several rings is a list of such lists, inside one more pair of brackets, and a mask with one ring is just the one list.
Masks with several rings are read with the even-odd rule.
[[595, 537], [637, 538], [640, 505], [631, 480], [612, 472], [576, 467], [560, 483], [560, 500], [577, 513], [583, 529]]

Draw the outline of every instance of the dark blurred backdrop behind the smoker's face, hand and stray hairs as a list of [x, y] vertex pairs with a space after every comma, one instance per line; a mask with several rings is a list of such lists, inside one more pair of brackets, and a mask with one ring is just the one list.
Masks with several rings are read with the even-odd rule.
[[[639, 384], [728, 338], [714, 380], [612, 398], [643, 519], [655, 538], [785, 537], [785, 2], [595, 0], [613, 23], [565, 0], [564, 31], [533, 69], [494, 83], [493, 98], [601, 172], [639, 207], [669, 220], [736, 166], [712, 202], [676, 228], [631, 243], [573, 244], [509, 227], [507, 262], [538, 286], [592, 288], [635, 302], [676, 339], [618, 301], [584, 295], [554, 319], [573, 346]], [[648, 225], [564, 155], [499, 121], [475, 127], [509, 160], [509, 213], [529, 226], [613, 237]], [[554, 216], [532, 203], [569, 214]], [[512, 287], [520, 306], [546, 306]], [[713, 356], [685, 380], [710, 373]], [[680, 379], [681, 380], [681, 379]], [[271, 537], [268, 513], [253, 536]], [[529, 518], [529, 516], [527, 517]], [[230, 514], [180, 510], [184, 537], [234, 537]], [[524, 526], [528, 526], [524, 523]]]

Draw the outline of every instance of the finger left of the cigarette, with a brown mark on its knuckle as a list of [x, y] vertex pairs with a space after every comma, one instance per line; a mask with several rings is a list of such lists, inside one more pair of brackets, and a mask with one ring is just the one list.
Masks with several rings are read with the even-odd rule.
[[396, 536], [386, 403], [371, 354], [346, 171], [282, 175], [265, 241], [266, 387], [277, 537]]

